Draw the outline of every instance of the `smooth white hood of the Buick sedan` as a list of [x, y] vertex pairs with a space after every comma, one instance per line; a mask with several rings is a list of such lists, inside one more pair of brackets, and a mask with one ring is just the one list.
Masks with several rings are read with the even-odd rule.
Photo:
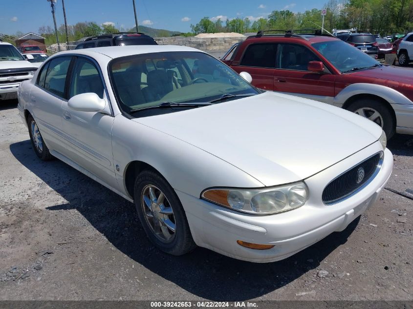
[[382, 133], [341, 108], [273, 92], [134, 121], [203, 149], [265, 186], [312, 176]]

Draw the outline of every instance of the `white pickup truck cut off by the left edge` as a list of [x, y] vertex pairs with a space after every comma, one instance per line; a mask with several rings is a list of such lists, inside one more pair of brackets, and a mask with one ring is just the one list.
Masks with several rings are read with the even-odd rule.
[[20, 83], [32, 79], [36, 70], [16, 47], [0, 41], [0, 100], [16, 99]]

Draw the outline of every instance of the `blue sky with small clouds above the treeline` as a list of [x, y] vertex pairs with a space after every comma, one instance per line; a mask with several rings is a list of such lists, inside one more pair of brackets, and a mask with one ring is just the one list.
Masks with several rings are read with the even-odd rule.
[[[173, 31], [191, 31], [190, 24], [207, 16], [212, 20], [221, 17], [232, 19], [250, 17], [252, 21], [266, 17], [273, 10], [289, 9], [302, 12], [322, 8], [326, 0], [135, 0], [139, 24]], [[53, 26], [50, 2], [46, 0], [0, 0], [0, 33], [18, 31], [38, 32], [41, 26]], [[98, 24], [113, 22], [129, 29], [134, 25], [132, 0], [65, 0], [68, 24], [95, 21]], [[57, 0], [58, 26], [64, 23], [62, 0]]]

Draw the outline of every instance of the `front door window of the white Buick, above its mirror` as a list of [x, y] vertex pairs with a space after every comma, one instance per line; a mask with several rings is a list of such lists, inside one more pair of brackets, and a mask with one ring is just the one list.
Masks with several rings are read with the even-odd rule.
[[96, 93], [103, 99], [103, 83], [96, 66], [86, 58], [79, 57], [73, 68], [69, 99], [81, 93]]

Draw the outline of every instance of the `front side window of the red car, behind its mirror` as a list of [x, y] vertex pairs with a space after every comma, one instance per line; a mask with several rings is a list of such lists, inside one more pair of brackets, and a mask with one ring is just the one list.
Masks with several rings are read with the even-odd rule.
[[307, 71], [308, 62], [321, 61], [313, 52], [301, 45], [281, 44], [277, 67], [285, 70]]

